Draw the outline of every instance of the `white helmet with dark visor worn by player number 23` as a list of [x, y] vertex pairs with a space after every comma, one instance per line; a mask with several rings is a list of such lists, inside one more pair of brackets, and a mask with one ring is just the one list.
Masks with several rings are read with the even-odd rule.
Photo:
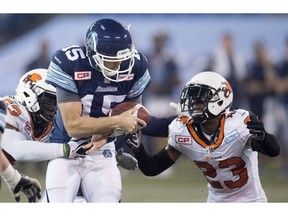
[[212, 71], [195, 75], [180, 96], [181, 111], [189, 113], [194, 122], [201, 124], [229, 111], [233, 91], [225, 78]]

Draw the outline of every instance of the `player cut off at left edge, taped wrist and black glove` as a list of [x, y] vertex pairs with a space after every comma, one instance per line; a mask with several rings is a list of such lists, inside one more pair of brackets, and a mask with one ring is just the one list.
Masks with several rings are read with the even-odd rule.
[[[0, 101], [0, 144], [2, 135], [6, 125], [6, 107]], [[36, 202], [37, 198], [41, 197], [41, 185], [37, 179], [29, 178], [28, 176], [21, 175], [16, 169], [12, 167], [8, 159], [5, 157], [0, 145], [0, 175], [6, 182], [8, 188], [13, 194], [16, 202], [20, 202], [20, 192], [23, 192], [29, 202]], [[1, 181], [1, 179], [0, 179]], [[1, 182], [0, 182], [1, 189]]]

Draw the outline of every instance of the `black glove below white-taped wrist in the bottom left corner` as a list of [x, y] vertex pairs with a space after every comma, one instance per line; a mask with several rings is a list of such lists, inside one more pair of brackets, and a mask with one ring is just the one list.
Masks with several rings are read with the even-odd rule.
[[28, 176], [21, 175], [21, 179], [16, 185], [15, 189], [11, 192], [16, 200], [16, 202], [20, 202], [20, 191], [22, 191], [26, 197], [28, 198], [28, 201], [36, 202], [37, 198], [41, 198], [41, 185], [40, 183], [34, 179], [29, 178]]

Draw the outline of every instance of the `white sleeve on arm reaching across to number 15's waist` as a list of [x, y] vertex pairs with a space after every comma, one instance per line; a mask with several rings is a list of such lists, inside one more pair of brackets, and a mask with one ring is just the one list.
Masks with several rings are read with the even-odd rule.
[[62, 144], [26, 140], [20, 132], [7, 128], [2, 135], [2, 148], [16, 161], [40, 162], [64, 156]]

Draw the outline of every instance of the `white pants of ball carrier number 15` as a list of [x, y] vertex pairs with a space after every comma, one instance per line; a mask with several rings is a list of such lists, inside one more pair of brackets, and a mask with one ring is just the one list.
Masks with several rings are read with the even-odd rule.
[[85, 158], [49, 161], [48, 202], [75, 202], [79, 186], [86, 202], [120, 202], [122, 182], [115, 150], [99, 150]]

